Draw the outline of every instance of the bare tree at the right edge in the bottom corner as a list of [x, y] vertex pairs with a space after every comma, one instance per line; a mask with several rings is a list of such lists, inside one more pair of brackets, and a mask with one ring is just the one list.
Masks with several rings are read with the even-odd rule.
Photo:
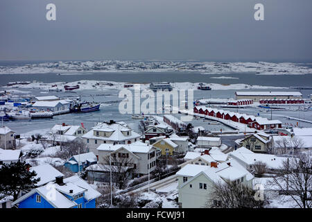
[[270, 185], [279, 187], [279, 193], [288, 196], [300, 208], [311, 208], [312, 161], [307, 155], [283, 162]]

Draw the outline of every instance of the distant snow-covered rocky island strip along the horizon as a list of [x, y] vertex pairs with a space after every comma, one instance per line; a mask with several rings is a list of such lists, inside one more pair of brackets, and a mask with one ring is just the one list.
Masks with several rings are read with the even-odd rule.
[[46, 74], [60, 75], [86, 72], [159, 72], [159, 71], [199, 71], [202, 74], [230, 74], [253, 72], [259, 75], [300, 75], [312, 74], [312, 70], [302, 64], [291, 62], [191, 62], [191, 61], [68, 61], [42, 62], [27, 65], [0, 66], [0, 74]]

